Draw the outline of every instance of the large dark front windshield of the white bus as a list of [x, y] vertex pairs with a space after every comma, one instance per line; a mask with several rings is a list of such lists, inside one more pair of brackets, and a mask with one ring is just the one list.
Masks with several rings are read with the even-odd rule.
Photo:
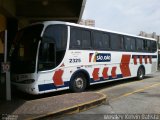
[[43, 29], [42, 24], [33, 25], [17, 33], [14, 50], [11, 53], [11, 71], [33, 73], [36, 67], [37, 46]]

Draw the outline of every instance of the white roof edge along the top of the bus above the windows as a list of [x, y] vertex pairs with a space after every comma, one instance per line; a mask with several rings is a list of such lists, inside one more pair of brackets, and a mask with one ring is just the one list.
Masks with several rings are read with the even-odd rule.
[[75, 27], [86, 28], [86, 29], [91, 29], [91, 30], [98, 30], [98, 31], [103, 31], [103, 32], [111, 32], [111, 33], [122, 34], [122, 35], [126, 35], [126, 36], [131, 36], [131, 37], [149, 39], [149, 40], [155, 40], [156, 41], [156, 39], [154, 39], [154, 38], [142, 37], [142, 36], [132, 35], [132, 34], [128, 34], [128, 33], [117, 32], [117, 31], [112, 31], [112, 30], [107, 30], [107, 29], [101, 29], [101, 28], [97, 28], [97, 27], [90, 27], [90, 26], [85, 26], [85, 25], [80, 25], [80, 24], [75, 24], [75, 23], [70, 23], [70, 22], [44, 21], [44, 22], [39, 22], [39, 24], [40, 23], [44, 24], [45, 26], [50, 25], [50, 24], [64, 24], [64, 25], [69, 25], [69, 26], [75, 26]]

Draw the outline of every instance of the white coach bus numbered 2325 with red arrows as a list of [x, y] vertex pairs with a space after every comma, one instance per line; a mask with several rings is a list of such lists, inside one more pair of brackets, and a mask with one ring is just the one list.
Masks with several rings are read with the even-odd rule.
[[143, 79], [158, 64], [155, 39], [61, 21], [19, 30], [10, 55], [12, 84], [29, 94]]

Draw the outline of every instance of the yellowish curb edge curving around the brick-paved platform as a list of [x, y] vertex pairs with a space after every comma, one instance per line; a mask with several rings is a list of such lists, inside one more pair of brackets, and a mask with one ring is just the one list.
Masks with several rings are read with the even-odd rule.
[[55, 111], [55, 112], [49, 112], [49, 113], [46, 113], [44, 115], [39, 115], [37, 117], [30, 117], [30, 118], [27, 118], [25, 120], [38, 120], [38, 119], [51, 117], [51, 116], [52, 116], [52, 118], [55, 118], [55, 117], [59, 117], [59, 116], [64, 116], [65, 114], [79, 113], [79, 112], [94, 108], [94, 107], [96, 107], [98, 105], [101, 105], [101, 104], [106, 102], [107, 96], [105, 94], [100, 93], [100, 92], [94, 92], [94, 93], [101, 94], [102, 97], [99, 98], [99, 99], [96, 99], [96, 100], [92, 100], [92, 101], [85, 102], [85, 103], [82, 103], [82, 104], [77, 104], [77, 105], [72, 106], [72, 107], [61, 109], [61, 110], [58, 110], [58, 111]]

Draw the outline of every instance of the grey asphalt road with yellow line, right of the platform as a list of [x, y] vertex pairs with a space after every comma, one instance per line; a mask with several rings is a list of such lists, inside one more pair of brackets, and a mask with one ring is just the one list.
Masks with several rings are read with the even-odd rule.
[[134, 78], [95, 85], [88, 91], [104, 93], [108, 100], [96, 108], [56, 120], [160, 119], [160, 72], [140, 81]]

